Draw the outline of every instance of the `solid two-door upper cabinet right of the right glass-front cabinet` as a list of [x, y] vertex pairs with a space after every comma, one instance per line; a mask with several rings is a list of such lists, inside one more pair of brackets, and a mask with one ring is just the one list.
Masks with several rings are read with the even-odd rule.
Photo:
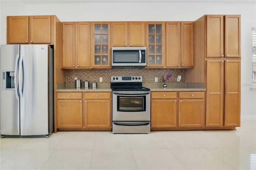
[[193, 34], [193, 22], [166, 22], [166, 67], [194, 67]]

